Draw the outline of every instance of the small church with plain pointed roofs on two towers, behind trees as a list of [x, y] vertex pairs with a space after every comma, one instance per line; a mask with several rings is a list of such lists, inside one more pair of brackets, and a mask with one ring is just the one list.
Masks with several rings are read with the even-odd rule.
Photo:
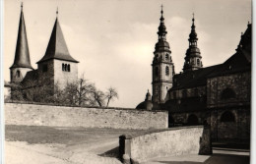
[[22, 83], [23, 89], [46, 85], [49, 90], [54, 87], [64, 88], [67, 82], [78, 79], [78, 61], [69, 53], [61, 27], [58, 21], [58, 12], [54, 27], [49, 38], [44, 56], [36, 63], [33, 69], [30, 59], [30, 50], [26, 32], [23, 6], [21, 10], [18, 39], [15, 59], [10, 67], [11, 84]]

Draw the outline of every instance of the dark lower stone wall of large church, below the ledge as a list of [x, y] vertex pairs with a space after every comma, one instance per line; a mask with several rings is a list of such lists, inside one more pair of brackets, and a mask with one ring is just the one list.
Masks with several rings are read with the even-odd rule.
[[[222, 121], [224, 112], [230, 112], [234, 121]], [[186, 126], [190, 115], [198, 118], [198, 125], [211, 125], [214, 140], [249, 141], [250, 139], [250, 106], [216, 108], [206, 111], [169, 113], [169, 126]]]

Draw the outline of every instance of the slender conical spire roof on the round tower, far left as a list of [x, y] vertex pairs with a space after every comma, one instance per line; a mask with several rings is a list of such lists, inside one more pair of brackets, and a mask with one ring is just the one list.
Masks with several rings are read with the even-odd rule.
[[30, 51], [29, 51], [29, 44], [25, 26], [25, 20], [23, 15], [23, 4], [21, 6], [21, 17], [20, 17], [20, 24], [18, 30], [18, 38], [16, 44], [16, 51], [15, 51], [15, 59], [12, 68], [31, 68], [31, 59], [30, 59]]

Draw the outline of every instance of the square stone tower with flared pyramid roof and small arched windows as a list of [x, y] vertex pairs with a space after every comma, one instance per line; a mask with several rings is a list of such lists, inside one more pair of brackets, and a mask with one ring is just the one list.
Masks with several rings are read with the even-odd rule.
[[58, 11], [45, 55], [37, 62], [39, 81], [63, 89], [68, 82], [78, 79], [78, 61], [69, 53], [58, 21]]

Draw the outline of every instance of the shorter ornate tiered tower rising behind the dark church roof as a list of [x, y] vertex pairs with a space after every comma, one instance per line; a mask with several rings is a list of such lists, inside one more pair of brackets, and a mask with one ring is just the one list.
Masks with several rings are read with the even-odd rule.
[[202, 64], [202, 57], [199, 48], [197, 47], [197, 33], [196, 33], [196, 27], [195, 27], [195, 18], [193, 14], [193, 19], [192, 19], [192, 27], [191, 27], [191, 32], [189, 34], [189, 48], [187, 49], [186, 52], [186, 57], [185, 57], [185, 63], [183, 66], [183, 71], [193, 71], [193, 70], [198, 70], [203, 67]]

